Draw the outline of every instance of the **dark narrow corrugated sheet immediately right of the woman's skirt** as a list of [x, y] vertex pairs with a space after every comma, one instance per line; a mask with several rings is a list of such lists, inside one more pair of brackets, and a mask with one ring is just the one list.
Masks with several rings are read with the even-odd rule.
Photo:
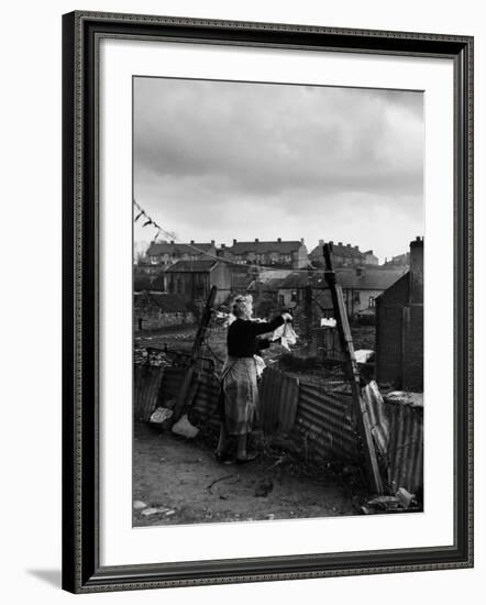
[[297, 414], [299, 381], [278, 370], [266, 367], [258, 391], [264, 432], [289, 432]]

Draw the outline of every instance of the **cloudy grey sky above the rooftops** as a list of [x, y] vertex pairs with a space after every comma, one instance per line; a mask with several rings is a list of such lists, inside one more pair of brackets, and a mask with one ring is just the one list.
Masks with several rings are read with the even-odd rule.
[[[134, 197], [180, 241], [423, 234], [422, 94], [134, 79]], [[151, 228], [135, 227], [135, 241]]]

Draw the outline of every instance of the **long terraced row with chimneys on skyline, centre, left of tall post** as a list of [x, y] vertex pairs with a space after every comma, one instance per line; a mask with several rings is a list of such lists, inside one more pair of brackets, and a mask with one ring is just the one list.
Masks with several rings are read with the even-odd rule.
[[233, 245], [221, 244], [218, 254], [229, 261], [240, 264], [255, 264], [275, 267], [302, 268], [309, 264], [307, 248], [303, 239], [300, 241], [239, 242]]

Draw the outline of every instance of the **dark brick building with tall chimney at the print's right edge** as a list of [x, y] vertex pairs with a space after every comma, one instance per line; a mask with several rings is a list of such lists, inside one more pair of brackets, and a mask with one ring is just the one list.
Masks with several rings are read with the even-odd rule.
[[410, 270], [376, 299], [376, 377], [423, 391], [423, 239], [410, 243]]

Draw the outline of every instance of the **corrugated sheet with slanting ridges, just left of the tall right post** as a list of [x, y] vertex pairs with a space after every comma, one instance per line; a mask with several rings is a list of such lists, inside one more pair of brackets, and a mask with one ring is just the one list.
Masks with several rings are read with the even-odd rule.
[[311, 449], [319, 459], [357, 458], [351, 410], [350, 395], [335, 394], [325, 384], [300, 381], [295, 429], [307, 457]]

